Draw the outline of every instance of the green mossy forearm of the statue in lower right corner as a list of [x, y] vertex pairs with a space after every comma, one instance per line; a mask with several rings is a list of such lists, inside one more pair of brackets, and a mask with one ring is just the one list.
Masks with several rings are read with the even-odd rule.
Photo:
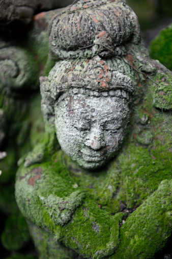
[[164, 246], [172, 229], [171, 184], [162, 181], [126, 220], [120, 231], [120, 249], [112, 258], [152, 258]]

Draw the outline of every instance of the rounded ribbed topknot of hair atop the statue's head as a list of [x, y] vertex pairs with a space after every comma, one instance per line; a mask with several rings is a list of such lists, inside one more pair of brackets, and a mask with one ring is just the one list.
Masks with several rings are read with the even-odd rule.
[[124, 42], [139, 40], [137, 16], [123, 0], [80, 0], [49, 25], [50, 48], [60, 58], [118, 56]]

